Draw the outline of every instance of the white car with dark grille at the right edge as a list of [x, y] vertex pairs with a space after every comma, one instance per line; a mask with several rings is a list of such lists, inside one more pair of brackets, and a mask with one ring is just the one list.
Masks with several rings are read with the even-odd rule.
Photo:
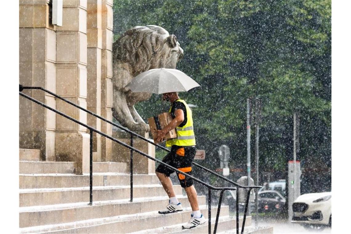
[[312, 229], [331, 227], [331, 192], [303, 194], [294, 201], [292, 210], [293, 223]]

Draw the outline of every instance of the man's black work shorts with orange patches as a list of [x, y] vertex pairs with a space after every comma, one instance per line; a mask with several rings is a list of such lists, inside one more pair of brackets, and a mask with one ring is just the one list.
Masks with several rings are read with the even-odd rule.
[[[171, 152], [168, 153], [162, 161], [172, 167], [177, 168], [179, 171], [192, 175], [192, 164], [195, 153], [195, 146], [183, 147], [173, 145], [171, 148]], [[156, 172], [165, 174], [166, 176], [170, 176], [170, 174], [172, 174], [174, 171], [171, 168], [160, 164], [157, 167]], [[193, 179], [188, 178], [188, 176], [184, 176], [183, 174], [180, 174], [178, 172], [176, 173], [181, 187], [186, 188], [193, 185]]]

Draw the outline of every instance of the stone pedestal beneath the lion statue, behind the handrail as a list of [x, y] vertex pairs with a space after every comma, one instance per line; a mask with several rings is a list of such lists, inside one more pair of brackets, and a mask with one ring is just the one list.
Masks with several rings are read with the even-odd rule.
[[[141, 136], [145, 135], [148, 137], [148, 133], [138, 133]], [[128, 145], [130, 145], [130, 134], [122, 131], [113, 131], [112, 137], [116, 138]], [[153, 158], [155, 158], [155, 146], [141, 140], [137, 137], [133, 137], [133, 147], [139, 149]], [[119, 143], [112, 142], [112, 157], [106, 159], [106, 161], [113, 162], [125, 162], [130, 168], [130, 149], [120, 145]], [[129, 171], [129, 169], [128, 169]], [[155, 173], [155, 161], [146, 158], [136, 152], [133, 152], [133, 173], [134, 174], [152, 174]]]

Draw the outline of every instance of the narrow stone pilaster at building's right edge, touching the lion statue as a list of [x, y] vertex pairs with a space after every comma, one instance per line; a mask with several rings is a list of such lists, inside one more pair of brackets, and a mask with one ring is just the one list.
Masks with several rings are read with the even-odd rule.
[[[101, 116], [112, 121], [112, 43], [113, 0], [102, 0], [102, 49], [101, 49]], [[112, 135], [112, 126], [101, 122], [101, 131]], [[101, 160], [111, 161], [112, 141], [101, 138]]]

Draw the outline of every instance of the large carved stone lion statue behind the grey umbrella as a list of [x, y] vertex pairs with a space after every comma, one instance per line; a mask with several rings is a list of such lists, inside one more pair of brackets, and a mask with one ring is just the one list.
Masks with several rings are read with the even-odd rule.
[[162, 27], [137, 26], [122, 34], [113, 43], [113, 117], [133, 131], [149, 132], [134, 104], [149, 99], [151, 93], [133, 93], [125, 86], [149, 69], [176, 68], [181, 58], [177, 37]]

